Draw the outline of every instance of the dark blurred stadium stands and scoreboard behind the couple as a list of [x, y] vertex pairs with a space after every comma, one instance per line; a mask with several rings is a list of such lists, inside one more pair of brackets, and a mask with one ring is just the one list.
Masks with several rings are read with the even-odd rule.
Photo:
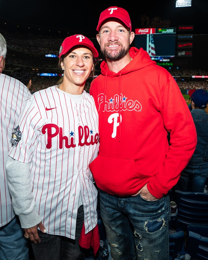
[[[61, 76], [57, 64], [62, 41], [73, 34], [84, 34], [99, 51], [96, 27], [100, 13], [110, 6], [128, 11], [135, 32], [131, 46], [147, 50], [159, 66], [173, 75], [184, 94], [189, 89], [208, 89], [207, 0], [139, 1], [122, 5], [117, 1], [106, 4], [0, 0], [0, 32], [8, 45], [4, 73], [11, 75], [18, 66], [28, 68], [32, 74], [31, 92], [55, 85]], [[96, 75], [100, 73], [102, 59], [99, 51]], [[91, 79], [86, 90], [90, 82]]]

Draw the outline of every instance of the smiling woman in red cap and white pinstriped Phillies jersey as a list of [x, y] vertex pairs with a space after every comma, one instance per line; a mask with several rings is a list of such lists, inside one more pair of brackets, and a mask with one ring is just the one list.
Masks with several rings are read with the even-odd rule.
[[97, 57], [87, 37], [67, 37], [59, 51], [63, 77], [26, 101], [11, 135], [8, 185], [36, 260], [84, 259], [81, 231], [98, 227], [89, 169], [98, 154], [98, 113], [84, 91]]

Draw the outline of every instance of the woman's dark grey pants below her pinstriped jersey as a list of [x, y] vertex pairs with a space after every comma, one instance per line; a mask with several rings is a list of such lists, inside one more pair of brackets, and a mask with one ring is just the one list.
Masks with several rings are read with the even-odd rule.
[[35, 260], [76, 260], [84, 259], [79, 239], [84, 222], [84, 209], [80, 206], [76, 218], [75, 240], [65, 236], [44, 234], [38, 229], [40, 243], [32, 243]]

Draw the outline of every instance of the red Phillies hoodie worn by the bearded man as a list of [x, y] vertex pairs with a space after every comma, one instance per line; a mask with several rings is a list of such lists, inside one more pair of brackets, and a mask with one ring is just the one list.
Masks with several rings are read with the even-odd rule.
[[104, 60], [102, 74], [91, 83], [100, 146], [90, 170], [107, 193], [134, 195], [147, 183], [150, 193], [162, 198], [195, 151], [195, 124], [171, 74], [142, 48], [129, 53], [132, 61], [118, 73]]

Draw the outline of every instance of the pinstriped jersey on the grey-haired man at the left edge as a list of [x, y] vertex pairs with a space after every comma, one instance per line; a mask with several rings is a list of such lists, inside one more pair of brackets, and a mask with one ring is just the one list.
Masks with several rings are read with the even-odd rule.
[[0, 138], [0, 226], [9, 223], [15, 217], [9, 193], [5, 164], [9, 151], [11, 132], [17, 122], [25, 100], [31, 96], [28, 88], [20, 81], [0, 73], [1, 93], [1, 138]]

